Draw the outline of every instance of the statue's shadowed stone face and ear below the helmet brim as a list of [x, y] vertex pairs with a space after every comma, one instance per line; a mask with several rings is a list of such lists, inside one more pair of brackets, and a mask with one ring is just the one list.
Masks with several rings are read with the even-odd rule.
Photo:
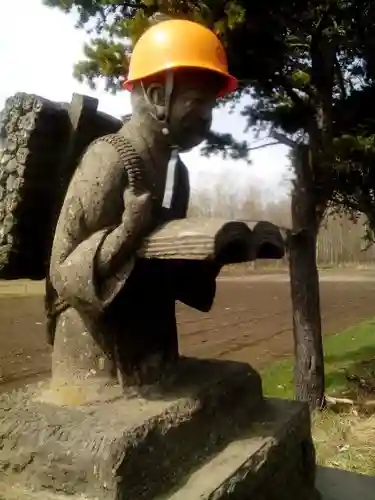
[[[167, 123], [171, 142], [180, 151], [188, 151], [206, 138], [222, 83], [221, 77], [208, 71], [175, 72]], [[167, 114], [164, 77], [149, 82], [146, 92], [153, 112], [163, 121]]]

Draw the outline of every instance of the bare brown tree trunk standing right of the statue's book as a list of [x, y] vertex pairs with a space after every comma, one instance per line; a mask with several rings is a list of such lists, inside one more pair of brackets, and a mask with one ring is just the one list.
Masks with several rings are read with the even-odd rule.
[[316, 241], [317, 215], [315, 186], [307, 148], [296, 158], [296, 180], [292, 192], [293, 234], [289, 239], [289, 266], [295, 349], [294, 382], [296, 398], [311, 410], [324, 406], [324, 356], [320, 315], [319, 275]]

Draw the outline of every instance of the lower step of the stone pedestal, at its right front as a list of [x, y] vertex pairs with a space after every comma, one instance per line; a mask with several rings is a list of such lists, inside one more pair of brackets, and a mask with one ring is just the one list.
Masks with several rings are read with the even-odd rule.
[[157, 500], [316, 500], [315, 453], [305, 405], [266, 401], [228, 446]]

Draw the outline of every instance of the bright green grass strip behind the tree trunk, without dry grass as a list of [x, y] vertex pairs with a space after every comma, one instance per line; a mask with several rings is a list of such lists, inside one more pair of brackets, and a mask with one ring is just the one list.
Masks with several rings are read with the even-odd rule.
[[[352, 388], [346, 374], [357, 373], [375, 359], [375, 319], [365, 321], [324, 339], [326, 393], [347, 394]], [[375, 367], [375, 361], [374, 361]], [[274, 363], [262, 372], [268, 396], [293, 398], [293, 359]]]

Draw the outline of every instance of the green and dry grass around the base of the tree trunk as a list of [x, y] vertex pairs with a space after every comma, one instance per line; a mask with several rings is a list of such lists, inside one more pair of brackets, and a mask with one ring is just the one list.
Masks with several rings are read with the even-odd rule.
[[[326, 393], [358, 403], [375, 399], [375, 319], [324, 340]], [[353, 383], [349, 378], [356, 378]], [[293, 359], [275, 363], [262, 373], [264, 393], [293, 398]], [[367, 381], [366, 387], [358, 381]], [[313, 415], [313, 437], [319, 465], [375, 475], [375, 415], [325, 410]]]

